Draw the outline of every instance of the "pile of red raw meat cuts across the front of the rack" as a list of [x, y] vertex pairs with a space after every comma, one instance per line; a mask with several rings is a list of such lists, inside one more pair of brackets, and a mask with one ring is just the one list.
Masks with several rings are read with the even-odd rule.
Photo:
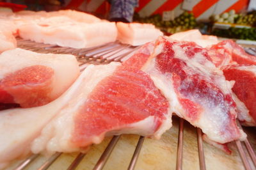
[[0, 102], [30, 107], [0, 111], [0, 167], [29, 152], [86, 151], [107, 135], [159, 139], [172, 113], [212, 143], [244, 140], [236, 118], [255, 126], [255, 57], [234, 42], [198, 35], [197, 43], [216, 43], [205, 48], [184, 35], [161, 36], [123, 64], [89, 65], [79, 77], [72, 55], [0, 54]]

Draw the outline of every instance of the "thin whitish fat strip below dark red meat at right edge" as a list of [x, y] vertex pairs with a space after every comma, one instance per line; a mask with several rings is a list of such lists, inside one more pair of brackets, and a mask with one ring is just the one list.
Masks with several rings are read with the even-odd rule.
[[252, 116], [250, 116], [249, 111], [245, 104], [241, 102], [241, 100], [239, 100], [235, 93], [232, 93], [232, 97], [236, 102], [238, 120], [241, 121], [243, 125], [255, 126], [256, 122], [253, 120]]

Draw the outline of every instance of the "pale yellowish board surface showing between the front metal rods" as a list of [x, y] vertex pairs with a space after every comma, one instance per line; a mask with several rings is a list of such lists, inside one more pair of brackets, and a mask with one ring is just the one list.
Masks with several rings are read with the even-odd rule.
[[[256, 130], [255, 128], [244, 128], [248, 139], [256, 151]], [[140, 157], [135, 169], [175, 169], [177, 157], [177, 142], [179, 132], [179, 119], [173, 118], [173, 127], [168, 130], [160, 140], [145, 139], [141, 148]], [[127, 169], [132, 154], [138, 142], [138, 135], [122, 135], [116, 144], [104, 170]], [[111, 138], [105, 139], [101, 144], [94, 145], [83, 158], [77, 169], [93, 169], [100, 155], [108, 145]], [[232, 155], [227, 155], [221, 150], [204, 143], [205, 164], [207, 169], [244, 169], [239, 153], [234, 143], [231, 144]], [[244, 150], [245, 147], [244, 147]], [[62, 154], [49, 167], [50, 170], [67, 169], [78, 153]], [[249, 157], [249, 155], [247, 155]], [[26, 169], [38, 169], [44, 164], [47, 157], [40, 156]], [[15, 161], [8, 167], [13, 169], [20, 161]], [[251, 162], [252, 164], [252, 162]], [[197, 149], [196, 128], [184, 123], [184, 146], [183, 146], [183, 169], [200, 169]], [[253, 167], [253, 166], [252, 166]]]

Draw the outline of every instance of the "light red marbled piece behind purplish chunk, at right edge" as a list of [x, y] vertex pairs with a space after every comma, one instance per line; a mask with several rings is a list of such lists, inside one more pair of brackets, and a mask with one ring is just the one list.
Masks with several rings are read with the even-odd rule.
[[256, 65], [256, 56], [247, 54], [244, 49], [232, 40], [224, 40], [209, 47], [209, 56], [216, 66]]

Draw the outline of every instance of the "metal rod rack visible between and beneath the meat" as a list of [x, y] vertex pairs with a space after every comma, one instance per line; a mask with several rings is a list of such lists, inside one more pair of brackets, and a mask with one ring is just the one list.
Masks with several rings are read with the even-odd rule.
[[[18, 47], [22, 49], [29, 49], [33, 50], [35, 52], [41, 52], [41, 53], [58, 53], [58, 54], [74, 54], [77, 56], [77, 60], [81, 63], [81, 70], [86, 68], [86, 65], [92, 63], [92, 64], [106, 64], [111, 61], [125, 61], [125, 59], [128, 59], [129, 56], [132, 55], [138, 47], [131, 47], [129, 45], [121, 45], [120, 43], [108, 43], [106, 45], [102, 45], [99, 47], [93, 47], [89, 49], [71, 49], [67, 47], [58, 47], [56, 45], [45, 45], [43, 43], [34, 43], [27, 40], [21, 40], [18, 39]], [[242, 128], [242, 127], [241, 127]], [[256, 129], [255, 129], [256, 130]], [[200, 128], [196, 128], [197, 132], [197, 143], [198, 143], [198, 157], [199, 157], [199, 163], [200, 163], [200, 169], [204, 170], [205, 168], [205, 155], [204, 155], [204, 147], [202, 142], [202, 131]], [[109, 142], [106, 149], [103, 151], [101, 157], [99, 158], [97, 164], [95, 164], [93, 170], [99, 170], [104, 167], [106, 164], [109, 155], [111, 155], [111, 151], [115, 148], [116, 143], [118, 143], [118, 140], [120, 139], [121, 135], [114, 135], [111, 141]], [[136, 148], [134, 150], [134, 153], [132, 155], [131, 161], [129, 163], [128, 169], [134, 169], [136, 166], [136, 161], [138, 160], [138, 157], [140, 155], [140, 150], [143, 146], [143, 141], [145, 137], [140, 136], [138, 139], [138, 143], [136, 145]], [[179, 118], [179, 137], [178, 137], [178, 144], [177, 144], [177, 161], [176, 161], [176, 169], [180, 170], [182, 169], [182, 158], [183, 158], [183, 148], [184, 148], [184, 120]], [[251, 170], [256, 169], [256, 156], [255, 152], [253, 151], [252, 145], [249, 143], [248, 139], [246, 141], [235, 141], [237, 146], [237, 150], [239, 151], [241, 160], [244, 164], [244, 169]], [[245, 145], [246, 150], [248, 154], [246, 154], [246, 151], [243, 150], [243, 146]], [[40, 170], [47, 169], [51, 166], [51, 164], [60, 157], [61, 153], [55, 153], [52, 155], [42, 166], [39, 168]], [[74, 159], [72, 164], [70, 164], [69, 167], [67, 167], [68, 170], [76, 169], [76, 167], [79, 165], [81, 160], [83, 160], [86, 153], [79, 153], [77, 157]], [[250, 155], [250, 157], [246, 157], [246, 155]], [[15, 167], [15, 170], [22, 170], [25, 169], [33, 160], [35, 160], [38, 157], [38, 155], [31, 155], [30, 157], [26, 158], [26, 160], [22, 161], [19, 166]], [[250, 164], [250, 162], [253, 162], [253, 164]], [[171, 162], [170, 162], [171, 163]], [[253, 167], [252, 167], [253, 166]]]

